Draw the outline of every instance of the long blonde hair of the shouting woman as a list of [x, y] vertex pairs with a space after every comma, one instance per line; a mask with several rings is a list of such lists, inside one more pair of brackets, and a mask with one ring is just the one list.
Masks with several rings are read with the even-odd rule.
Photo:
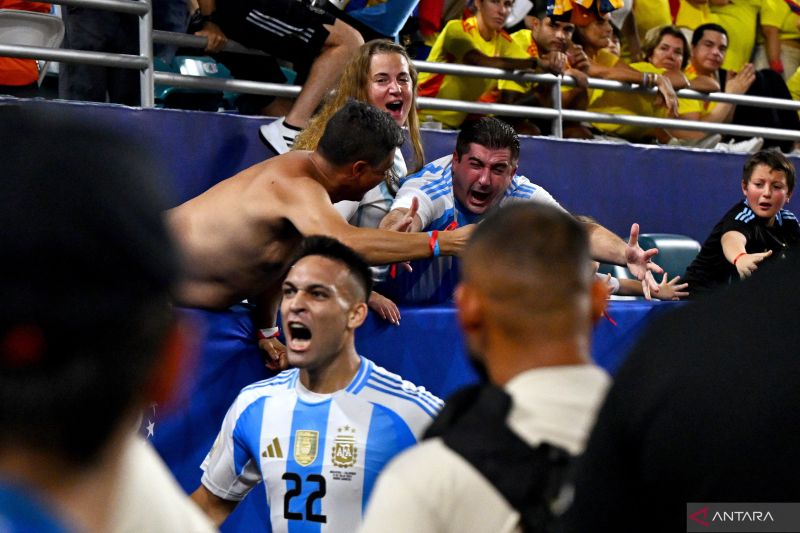
[[[375, 39], [364, 43], [356, 55], [347, 63], [339, 78], [339, 84], [322, 104], [320, 110], [308, 121], [308, 126], [300, 132], [294, 141], [293, 150], [314, 150], [322, 137], [328, 119], [334, 115], [348, 99], [353, 98], [369, 103], [367, 87], [369, 85], [369, 69], [372, 56], [377, 54], [400, 54], [408, 63], [411, 74], [411, 109], [408, 112], [406, 125], [411, 137], [411, 148], [414, 160], [408, 165], [409, 173], [422, 168], [425, 156], [419, 134], [419, 117], [417, 116], [417, 71], [411, 64], [408, 52], [401, 45], [386, 39]], [[402, 176], [400, 176], [402, 177]]]

